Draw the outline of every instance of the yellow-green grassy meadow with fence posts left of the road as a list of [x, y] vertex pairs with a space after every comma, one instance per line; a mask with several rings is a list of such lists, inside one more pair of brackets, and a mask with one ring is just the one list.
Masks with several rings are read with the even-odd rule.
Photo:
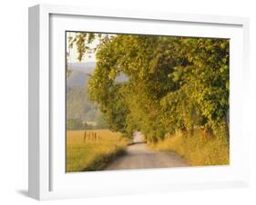
[[67, 172], [103, 170], [109, 161], [125, 153], [127, 144], [120, 132], [67, 131]]

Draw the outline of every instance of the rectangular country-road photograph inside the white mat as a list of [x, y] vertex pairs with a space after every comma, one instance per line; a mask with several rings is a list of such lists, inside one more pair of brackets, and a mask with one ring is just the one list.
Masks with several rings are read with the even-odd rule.
[[66, 31], [66, 172], [230, 164], [230, 39]]

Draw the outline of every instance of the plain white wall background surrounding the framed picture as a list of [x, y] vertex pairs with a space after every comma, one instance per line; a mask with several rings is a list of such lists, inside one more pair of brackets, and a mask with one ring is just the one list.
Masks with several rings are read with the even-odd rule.
[[[27, 7], [39, 3], [138, 9], [189, 14], [239, 15], [251, 18], [251, 91], [245, 109], [251, 137], [251, 186], [246, 189], [194, 190], [46, 204], [256, 204], [256, 12], [254, 1], [237, 0], [7, 0], [0, 6], [0, 204], [35, 204], [27, 189]], [[254, 38], [253, 38], [254, 36]]]

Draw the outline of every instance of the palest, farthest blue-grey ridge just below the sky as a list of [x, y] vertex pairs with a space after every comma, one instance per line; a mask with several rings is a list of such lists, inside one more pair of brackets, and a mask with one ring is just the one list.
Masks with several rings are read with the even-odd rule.
[[67, 78], [67, 86], [69, 87], [85, 87], [88, 81], [88, 74], [92, 74], [96, 66], [96, 62], [87, 63], [68, 63], [67, 68], [71, 71]]

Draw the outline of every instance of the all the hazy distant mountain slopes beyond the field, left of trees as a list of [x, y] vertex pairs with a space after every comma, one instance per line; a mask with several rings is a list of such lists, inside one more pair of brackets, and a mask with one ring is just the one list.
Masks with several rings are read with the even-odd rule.
[[[89, 75], [93, 74], [95, 67], [96, 62], [67, 64], [67, 69], [71, 71], [67, 78], [67, 120], [103, 122], [98, 105], [89, 101], [87, 93]], [[125, 74], [120, 74], [116, 78], [117, 83], [127, 80]]]

